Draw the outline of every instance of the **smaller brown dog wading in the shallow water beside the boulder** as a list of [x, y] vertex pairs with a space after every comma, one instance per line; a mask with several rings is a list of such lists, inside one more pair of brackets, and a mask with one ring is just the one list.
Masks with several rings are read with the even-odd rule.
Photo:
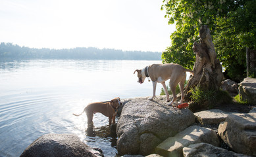
[[[86, 108], [84, 108], [84, 112], [86, 112], [88, 124], [92, 123], [93, 120], [93, 114], [95, 113], [102, 113], [104, 116], [109, 117], [109, 125], [115, 124], [115, 118], [118, 107], [122, 105], [120, 98], [115, 97], [111, 101], [107, 102], [97, 102], [97, 103], [90, 103], [87, 105]], [[75, 116], [80, 116], [80, 114], [74, 114]]]

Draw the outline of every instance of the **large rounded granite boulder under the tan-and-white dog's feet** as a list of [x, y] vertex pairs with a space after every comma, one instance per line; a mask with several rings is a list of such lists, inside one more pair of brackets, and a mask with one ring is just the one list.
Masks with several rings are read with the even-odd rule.
[[118, 154], [152, 154], [159, 143], [193, 122], [195, 116], [189, 109], [168, 106], [163, 96], [153, 101], [148, 97], [134, 98], [124, 105], [118, 120]]

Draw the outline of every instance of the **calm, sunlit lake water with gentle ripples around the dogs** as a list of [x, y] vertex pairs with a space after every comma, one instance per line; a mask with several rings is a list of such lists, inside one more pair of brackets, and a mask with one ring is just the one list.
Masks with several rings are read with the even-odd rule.
[[[46, 133], [75, 133], [105, 156], [115, 156], [117, 137], [108, 118], [93, 117], [88, 130], [88, 103], [152, 95], [152, 83], [137, 82], [136, 69], [161, 61], [28, 60], [0, 61], [0, 156], [20, 156]], [[157, 95], [161, 84], [157, 84]]]

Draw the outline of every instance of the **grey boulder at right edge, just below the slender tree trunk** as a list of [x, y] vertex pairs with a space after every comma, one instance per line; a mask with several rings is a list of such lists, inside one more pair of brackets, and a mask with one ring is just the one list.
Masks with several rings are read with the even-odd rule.
[[243, 79], [239, 86], [239, 96], [243, 101], [256, 104], [256, 79]]

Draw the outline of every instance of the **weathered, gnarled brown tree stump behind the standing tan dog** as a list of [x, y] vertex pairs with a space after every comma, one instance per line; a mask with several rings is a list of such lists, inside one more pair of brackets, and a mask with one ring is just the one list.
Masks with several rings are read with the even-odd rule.
[[201, 26], [199, 30], [199, 43], [193, 43], [193, 52], [196, 55], [193, 66], [193, 77], [188, 80], [184, 90], [185, 98], [190, 99], [191, 89], [199, 86], [201, 90], [218, 90], [222, 81], [222, 65], [217, 60], [208, 26]]

